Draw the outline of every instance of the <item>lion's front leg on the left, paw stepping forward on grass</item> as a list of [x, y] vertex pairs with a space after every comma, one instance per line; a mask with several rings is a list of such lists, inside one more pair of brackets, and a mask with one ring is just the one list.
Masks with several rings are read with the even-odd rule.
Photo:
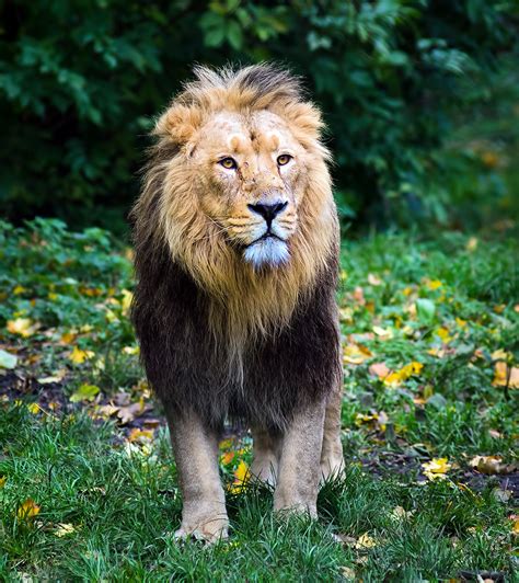
[[227, 538], [229, 519], [218, 471], [218, 435], [194, 413], [176, 416], [168, 412], [183, 508], [178, 538], [215, 542]]

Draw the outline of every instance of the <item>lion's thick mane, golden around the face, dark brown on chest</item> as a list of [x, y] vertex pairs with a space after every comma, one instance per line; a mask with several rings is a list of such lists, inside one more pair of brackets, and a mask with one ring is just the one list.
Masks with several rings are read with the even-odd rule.
[[[162, 399], [177, 408], [191, 404], [212, 422], [226, 413], [261, 418], [263, 410], [272, 425], [282, 426], [300, 401], [327, 390], [338, 376], [338, 227], [322, 121], [298, 78], [274, 66], [197, 67], [195, 75], [155, 125], [132, 210], [138, 277], [132, 319], [148, 376]], [[290, 262], [277, 270], [254, 270], [201, 212], [183, 146], [217, 112], [256, 110], [285, 119], [313, 160]], [[297, 334], [308, 342], [301, 344]], [[322, 346], [311, 345], [321, 340]], [[276, 380], [270, 368], [279, 358], [292, 364], [281, 367]], [[267, 368], [270, 388], [233, 411], [237, 395], [262, 392]], [[298, 389], [298, 381], [309, 388]], [[292, 384], [301, 398], [290, 387], [287, 392]], [[217, 397], [209, 397], [209, 389]], [[276, 397], [276, 390], [285, 395]]]

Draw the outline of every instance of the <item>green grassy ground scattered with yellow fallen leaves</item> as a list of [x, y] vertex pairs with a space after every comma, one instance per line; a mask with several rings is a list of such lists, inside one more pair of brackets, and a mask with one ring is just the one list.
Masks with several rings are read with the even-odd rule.
[[281, 521], [221, 444], [231, 537], [180, 545], [163, 416], [128, 322], [130, 251], [0, 224], [0, 578], [514, 581], [517, 245], [499, 233], [345, 238], [344, 479]]

